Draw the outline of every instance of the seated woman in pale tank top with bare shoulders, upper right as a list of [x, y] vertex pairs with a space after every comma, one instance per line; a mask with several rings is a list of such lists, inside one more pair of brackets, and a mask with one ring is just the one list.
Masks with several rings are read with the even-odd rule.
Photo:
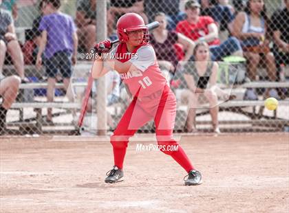
[[[244, 12], [239, 12], [233, 21], [232, 34], [239, 38], [242, 43], [250, 80], [257, 80], [257, 67], [259, 63], [263, 63], [266, 65], [268, 78], [275, 81], [275, 57], [268, 46], [271, 34], [270, 20], [266, 15], [263, 0], [249, 0], [247, 2]], [[275, 89], [267, 89], [265, 96], [279, 98]], [[245, 98], [257, 100], [257, 95], [253, 89], [248, 89]]]

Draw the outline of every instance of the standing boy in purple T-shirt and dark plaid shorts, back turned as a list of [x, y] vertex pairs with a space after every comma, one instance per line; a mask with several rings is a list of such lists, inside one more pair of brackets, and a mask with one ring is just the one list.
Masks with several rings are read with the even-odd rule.
[[[44, 16], [39, 25], [41, 42], [36, 67], [41, 68], [44, 52], [48, 76], [47, 101], [52, 102], [58, 70], [63, 76], [65, 89], [69, 86], [72, 65], [76, 63], [78, 38], [72, 17], [59, 11], [61, 0], [42, 0], [42, 6]], [[52, 122], [52, 109], [47, 109], [47, 122]]]

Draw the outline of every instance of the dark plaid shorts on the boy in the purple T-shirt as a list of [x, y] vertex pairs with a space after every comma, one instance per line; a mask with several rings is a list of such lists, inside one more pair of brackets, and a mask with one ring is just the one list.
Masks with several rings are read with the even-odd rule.
[[51, 58], [45, 58], [44, 66], [46, 74], [50, 78], [56, 78], [58, 71], [63, 78], [72, 76], [72, 54], [66, 50], [56, 52]]

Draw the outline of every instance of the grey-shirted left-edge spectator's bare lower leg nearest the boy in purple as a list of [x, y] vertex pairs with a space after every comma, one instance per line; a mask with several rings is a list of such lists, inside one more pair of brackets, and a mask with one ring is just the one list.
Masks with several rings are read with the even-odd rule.
[[12, 58], [13, 64], [20, 78], [23, 79], [24, 75], [24, 59], [18, 41], [13, 40], [7, 44], [8, 52]]

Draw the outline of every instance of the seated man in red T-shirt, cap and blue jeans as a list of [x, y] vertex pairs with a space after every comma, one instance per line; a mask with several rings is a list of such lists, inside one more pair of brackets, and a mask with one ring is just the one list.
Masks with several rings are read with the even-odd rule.
[[211, 59], [222, 60], [232, 54], [242, 56], [242, 47], [235, 37], [230, 37], [220, 44], [217, 25], [210, 16], [200, 16], [200, 3], [195, 0], [186, 1], [186, 20], [177, 25], [177, 32], [191, 38], [196, 43], [206, 41], [210, 45]]

